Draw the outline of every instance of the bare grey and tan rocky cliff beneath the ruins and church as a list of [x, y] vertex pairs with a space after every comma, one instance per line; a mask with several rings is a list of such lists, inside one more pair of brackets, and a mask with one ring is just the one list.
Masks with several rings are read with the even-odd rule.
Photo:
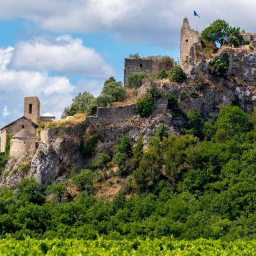
[[[210, 59], [199, 59], [191, 66], [190, 77], [179, 84], [162, 81], [147, 81], [138, 90], [142, 96], [152, 85], [161, 94], [157, 108], [148, 118], [140, 118], [134, 105], [105, 107], [98, 109], [97, 117], [87, 117], [77, 126], [55, 127], [41, 132], [35, 154], [24, 155], [21, 159], [11, 159], [2, 172], [1, 185], [16, 187], [22, 177], [34, 177], [42, 184], [66, 180], [90, 162], [100, 152], [112, 155], [117, 137], [130, 135], [132, 142], [143, 136], [144, 144], [154, 135], [159, 124], [164, 124], [169, 134], [180, 134], [185, 123], [185, 115], [174, 114], [168, 109], [167, 95], [172, 93], [179, 99], [180, 110], [185, 114], [195, 107], [204, 120], [219, 107], [239, 104], [247, 112], [252, 112], [256, 103], [255, 61], [256, 52], [248, 49], [226, 48], [219, 55], [229, 54], [227, 77], [216, 77], [209, 72]], [[81, 144], [87, 134], [97, 137], [95, 154], [85, 157]]]

